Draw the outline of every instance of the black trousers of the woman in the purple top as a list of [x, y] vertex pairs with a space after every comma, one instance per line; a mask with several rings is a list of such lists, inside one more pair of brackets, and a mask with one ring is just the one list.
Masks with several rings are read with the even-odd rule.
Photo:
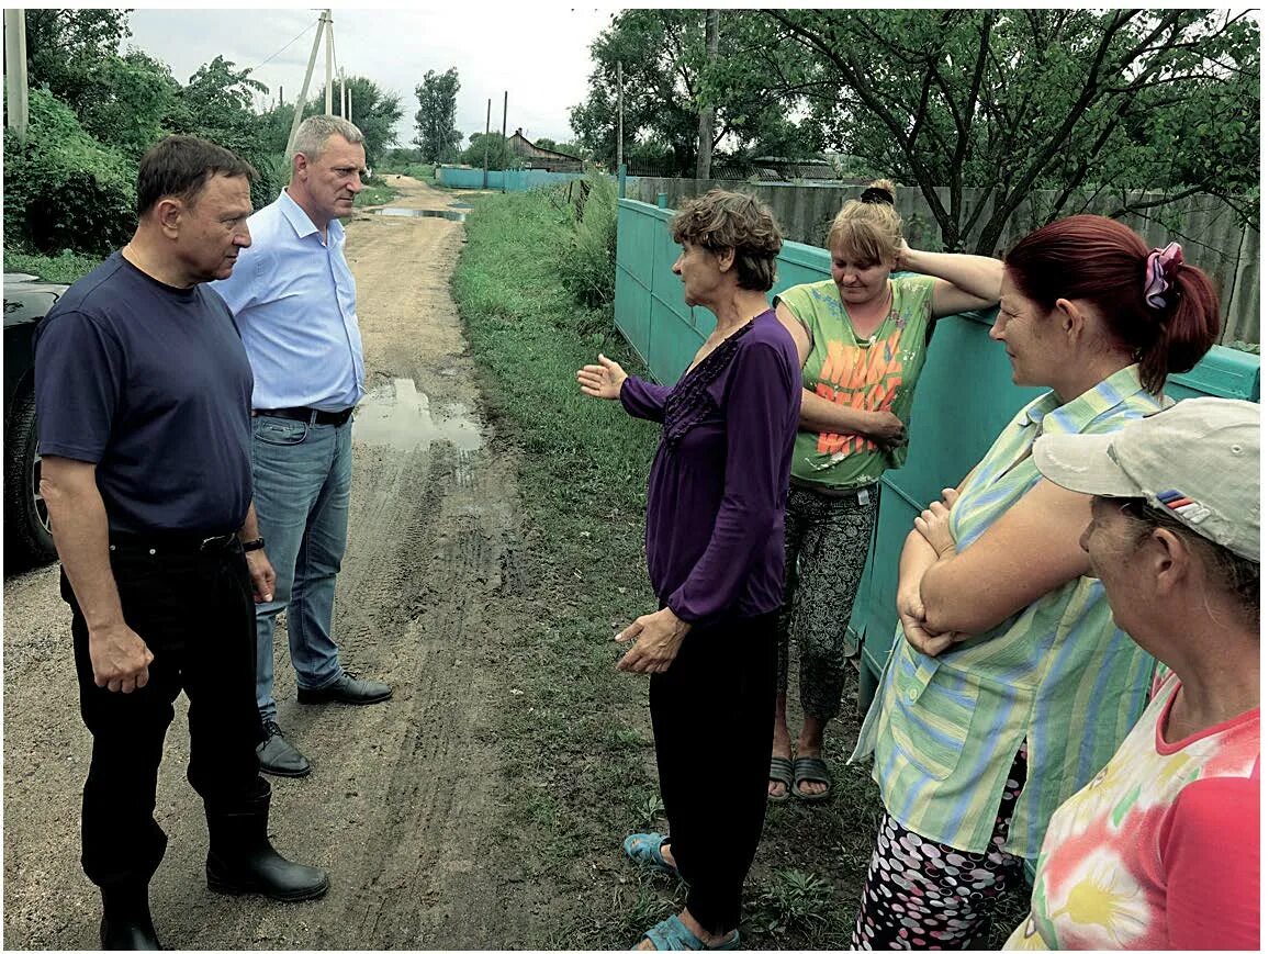
[[688, 911], [711, 932], [740, 924], [763, 836], [779, 613], [692, 629], [648, 702], [671, 849]]

